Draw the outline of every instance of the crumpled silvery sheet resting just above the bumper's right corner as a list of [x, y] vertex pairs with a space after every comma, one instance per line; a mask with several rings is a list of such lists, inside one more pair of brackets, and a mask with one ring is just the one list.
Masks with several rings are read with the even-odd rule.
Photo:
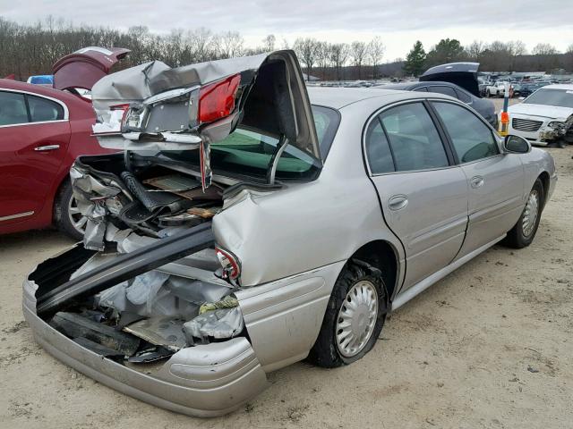
[[243, 314], [239, 307], [208, 311], [183, 325], [187, 341], [192, 341], [193, 338], [233, 338], [241, 333], [243, 328]]

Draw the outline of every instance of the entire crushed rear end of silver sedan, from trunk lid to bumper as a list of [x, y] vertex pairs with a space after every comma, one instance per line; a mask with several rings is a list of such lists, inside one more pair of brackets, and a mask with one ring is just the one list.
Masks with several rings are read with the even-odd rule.
[[[92, 93], [94, 134], [124, 153], [73, 164], [84, 240], [30, 273], [24, 315], [49, 353], [101, 383], [184, 414], [225, 414], [267, 385], [237, 299], [244, 255], [229, 250], [249, 219], [226, 210], [284, 187], [286, 146], [321, 165], [295, 55], [147, 63]], [[276, 137], [264, 177], [212, 171], [211, 145], [237, 127]]]

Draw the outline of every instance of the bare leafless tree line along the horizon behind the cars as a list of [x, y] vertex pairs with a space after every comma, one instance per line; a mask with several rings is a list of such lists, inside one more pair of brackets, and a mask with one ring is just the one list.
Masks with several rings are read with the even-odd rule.
[[476, 61], [488, 71], [573, 71], [573, 44], [560, 54], [550, 45], [539, 44], [526, 55], [519, 41], [475, 41], [461, 46], [457, 39], [442, 39], [426, 54], [422, 42], [406, 56], [392, 63], [382, 63], [385, 46], [380, 37], [369, 42], [329, 43], [316, 38], [297, 38], [292, 46], [269, 34], [258, 46], [246, 46], [237, 31], [216, 33], [210, 29], [173, 29], [156, 34], [145, 26], [126, 31], [106, 27], [74, 26], [47, 17], [36, 24], [19, 24], [0, 17], [0, 78], [15, 74], [26, 80], [30, 75], [50, 73], [52, 64], [64, 55], [85, 46], [121, 46], [131, 49], [118, 68], [159, 60], [172, 67], [240, 55], [255, 55], [279, 48], [295, 50], [304, 71], [321, 80], [371, 80], [383, 76], [418, 76], [440, 63]]

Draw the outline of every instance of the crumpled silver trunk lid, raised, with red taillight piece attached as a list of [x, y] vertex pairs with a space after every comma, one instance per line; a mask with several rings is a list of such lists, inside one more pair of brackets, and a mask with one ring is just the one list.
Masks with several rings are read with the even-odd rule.
[[[228, 112], [214, 112], [215, 120], [204, 119], [207, 97], [218, 101], [210, 88], [230, 91]], [[200, 148], [209, 173], [209, 145], [241, 126], [286, 139], [321, 160], [303, 73], [290, 50], [175, 69], [158, 61], [144, 63], [99, 80], [92, 102], [98, 115], [94, 134], [103, 147]]]

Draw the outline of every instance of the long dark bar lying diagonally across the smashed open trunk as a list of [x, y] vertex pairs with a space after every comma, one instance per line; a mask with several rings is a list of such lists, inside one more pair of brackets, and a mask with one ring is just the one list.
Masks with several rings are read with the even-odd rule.
[[117, 283], [147, 273], [215, 244], [211, 223], [201, 223], [189, 231], [158, 240], [150, 246], [120, 255], [88, 273], [65, 282], [38, 298], [38, 315], [52, 315], [66, 302], [106, 290]]

